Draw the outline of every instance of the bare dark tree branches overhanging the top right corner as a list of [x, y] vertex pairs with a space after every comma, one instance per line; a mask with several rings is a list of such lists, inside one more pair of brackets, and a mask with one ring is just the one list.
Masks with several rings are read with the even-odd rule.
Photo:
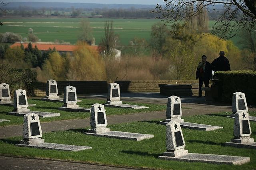
[[[175, 30], [178, 24], [184, 27], [190, 22], [190, 18], [198, 16], [202, 9], [215, 10], [215, 6], [223, 6], [212, 32], [223, 39], [232, 38], [241, 28], [246, 25], [253, 27], [256, 22], [256, 1], [255, 0], [164, 0], [164, 5], [157, 4], [153, 13], [158, 14], [156, 18], [163, 19]], [[188, 8], [187, 6], [191, 6]]]

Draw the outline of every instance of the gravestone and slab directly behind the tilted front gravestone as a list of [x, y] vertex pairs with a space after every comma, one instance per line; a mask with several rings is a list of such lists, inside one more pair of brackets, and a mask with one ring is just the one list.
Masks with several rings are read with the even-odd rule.
[[182, 109], [181, 109], [181, 100], [178, 96], [168, 97], [167, 107], [166, 107], [166, 119], [160, 121], [160, 125], [167, 125], [170, 121], [179, 122], [182, 128], [189, 128], [195, 130], [205, 130], [211, 131], [220, 129], [223, 127], [212, 126], [212, 125], [203, 125], [198, 123], [184, 122], [184, 119], [181, 119]]

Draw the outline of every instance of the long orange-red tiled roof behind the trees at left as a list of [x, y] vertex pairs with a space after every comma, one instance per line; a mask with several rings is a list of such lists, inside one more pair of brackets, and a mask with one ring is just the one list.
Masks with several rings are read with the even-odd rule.
[[[28, 47], [28, 43], [22, 43], [24, 48]], [[34, 48], [35, 45], [40, 51], [48, 51], [49, 48], [55, 49], [57, 51], [66, 51], [66, 52], [73, 52], [75, 49], [77, 49], [78, 45], [58, 45], [58, 44], [40, 44], [40, 43], [32, 43], [32, 47]], [[14, 43], [10, 45], [10, 47], [20, 47], [20, 43]], [[97, 46], [89, 46], [92, 49], [97, 49]]]

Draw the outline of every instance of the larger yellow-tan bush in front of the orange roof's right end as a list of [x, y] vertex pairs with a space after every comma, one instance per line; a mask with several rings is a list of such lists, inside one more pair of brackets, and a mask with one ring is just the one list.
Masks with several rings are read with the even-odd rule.
[[89, 45], [79, 43], [69, 61], [68, 80], [106, 80], [104, 61]]

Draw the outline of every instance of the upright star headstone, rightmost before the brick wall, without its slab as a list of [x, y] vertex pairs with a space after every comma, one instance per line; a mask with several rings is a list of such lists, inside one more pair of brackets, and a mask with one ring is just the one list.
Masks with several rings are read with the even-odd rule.
[[122, 101], [120, 101], [120, 87], [118, 83], [110, 83], [108, 85], [108, 95], [106, 104], [122, 104]]

